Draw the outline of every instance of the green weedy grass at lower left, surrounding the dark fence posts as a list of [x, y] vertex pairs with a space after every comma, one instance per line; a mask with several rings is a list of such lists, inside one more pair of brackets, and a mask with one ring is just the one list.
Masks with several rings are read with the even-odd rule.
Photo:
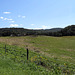
[[24, 48], [7, 45], [7, 52], [5, 53], [4, 44], [0, 44], [0, 75], [48, 74], [46, 68], [31, 62], [31, 57], [37, 56], [37, 54], [29, 52], [29, 60], [27, 61]]

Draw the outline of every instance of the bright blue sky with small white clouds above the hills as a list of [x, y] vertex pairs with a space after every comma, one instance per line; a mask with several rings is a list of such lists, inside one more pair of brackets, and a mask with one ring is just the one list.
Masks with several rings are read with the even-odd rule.
[[75, 0], [0, 0], [0, 28], [64, 28], [75, 24]]

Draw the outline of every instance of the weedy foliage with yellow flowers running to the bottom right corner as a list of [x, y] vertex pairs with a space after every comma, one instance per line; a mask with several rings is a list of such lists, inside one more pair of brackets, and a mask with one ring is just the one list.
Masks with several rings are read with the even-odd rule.
[[48, 68], [51, 72], [54, 72], [57, 75], [60, 75], [61, 73], [66, 75], [71, 75], [74, 71], [74, 66], [71, 69], [67, 63], [60, 64], [57, 63], [55, 60], [51, 61], [46, 57], [42, 56], [34, 56], [31, 58], [32, 62], [35, 62], [37, 65], [41, 65], [45, 68]]

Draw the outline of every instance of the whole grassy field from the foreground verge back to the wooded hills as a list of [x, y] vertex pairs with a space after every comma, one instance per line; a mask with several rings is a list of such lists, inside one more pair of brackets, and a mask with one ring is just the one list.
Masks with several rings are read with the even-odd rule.
[[0, 75], [35, 74], [74, 75], [75, 36], [0, 37]]

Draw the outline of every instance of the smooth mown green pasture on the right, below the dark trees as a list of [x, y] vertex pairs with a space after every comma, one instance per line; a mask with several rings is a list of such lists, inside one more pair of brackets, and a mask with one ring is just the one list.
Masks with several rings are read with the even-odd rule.
[[30, 43], [40, 48], [49, 57], [75, 63], [75, 37], [47, 37], [31, 38]]

